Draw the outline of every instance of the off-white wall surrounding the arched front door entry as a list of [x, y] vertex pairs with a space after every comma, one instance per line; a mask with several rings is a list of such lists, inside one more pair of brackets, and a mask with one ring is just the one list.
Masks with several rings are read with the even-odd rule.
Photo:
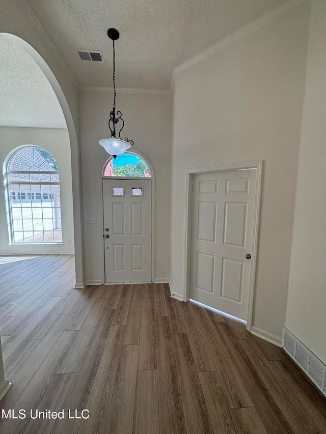
[[[83, 227], [85, 243], [85, 281], [101, 281], [100, 176], [110, 157], [99, 146], [110, 136], [107, 122], [112, 109], [111, 92], [81, 91], [80, 144], [83, 187]], [[155, 278], [170, 277], [171, 203], [171, 95], [118, 93], [117, 108], [122, 111], [123, 137], [134, 141], [130, 151], [138, 150], [152, 163], [155, 172]], [[89, 218], [97, 217], [97, 224]]]

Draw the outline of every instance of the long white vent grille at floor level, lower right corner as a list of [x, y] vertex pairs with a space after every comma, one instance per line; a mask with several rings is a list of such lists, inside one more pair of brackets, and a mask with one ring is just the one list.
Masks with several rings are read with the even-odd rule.
[[285, 327], [282, 347], [326, 396], [326, 366]]

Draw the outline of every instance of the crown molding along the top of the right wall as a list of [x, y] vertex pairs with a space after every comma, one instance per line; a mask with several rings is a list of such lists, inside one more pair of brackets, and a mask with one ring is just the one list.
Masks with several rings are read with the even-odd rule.
[[188, 59], [183, 64], [177, 66], [176, 68], [173, 69], [173, 72], [172, 72], [171, 91], [173, 91], [173, 89], [174, 89], [175, 76], [179, 72], [184, 71], [185, 69], [191, 67], [192, 65], [195, 65], [197, 62], [200, 62], [201, 60], [205, 59], [206, 57], [210, 56], [211, 54], [216, 53], [217, 51], [220, 51], [222, 48], [224, 48], [224, 47], [226, 47], [226, 46], [228, 46], [228, 45], [230, 45], [236, 41], [239, 41], [244, 36], [247, 36], [250, 33], [258, 30], [259, 28], [261, 28], [264, 25], [268, 24], [269, 22], [275, 20], [276, 18], [280, 17], [281, 15], [285, 14], [286, 12], [289, 12], [290, 10], [301, 5], [302, 3], [305, 3], [306, 1], [307, 0], [289, 0], [286, 3], [283, 3], [283, 5], [279, 6], [278, 8], [274, 9], [273, 11], [266, 12], [265, 14], [261, 15], [259, 18], [256, 18], [251, 23], [244, 25], [243, 27], [239, 28], [235, 32], [226, 36], [225, 38], [221, 39], [218, 42], [215, 42], [213, 45], [209, 46], [205, 50], [194, 55], [193, 57], [191, 57], [191, 59]]

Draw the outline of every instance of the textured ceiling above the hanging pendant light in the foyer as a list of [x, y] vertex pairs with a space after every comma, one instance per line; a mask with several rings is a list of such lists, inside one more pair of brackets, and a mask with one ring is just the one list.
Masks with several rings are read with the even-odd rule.
[[[112, 86], [116, 27], [117, 86], [169, 89], [173, 68], [275, 9], [284, 0], [25, 0], [77, 82]], [[79, 60], [78, 49], [101, 50], [105, 64]]]

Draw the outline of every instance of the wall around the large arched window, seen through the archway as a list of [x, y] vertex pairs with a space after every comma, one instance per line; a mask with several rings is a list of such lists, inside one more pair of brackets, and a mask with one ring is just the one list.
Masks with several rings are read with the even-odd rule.
[[[61, 219], [63, 245], [9, 244], [5, 188], [0, 189], [0, 254], [73, 253], [73, 208], [71, 183], [71, 156], [68, 130], [58, 128], [0, 127], [0, 167], [8, 154], [19, 146], [33, 144], [50, 152], [56, 158], [60, 171]], [[70, 241], [70, 244], [69, 244]]]

